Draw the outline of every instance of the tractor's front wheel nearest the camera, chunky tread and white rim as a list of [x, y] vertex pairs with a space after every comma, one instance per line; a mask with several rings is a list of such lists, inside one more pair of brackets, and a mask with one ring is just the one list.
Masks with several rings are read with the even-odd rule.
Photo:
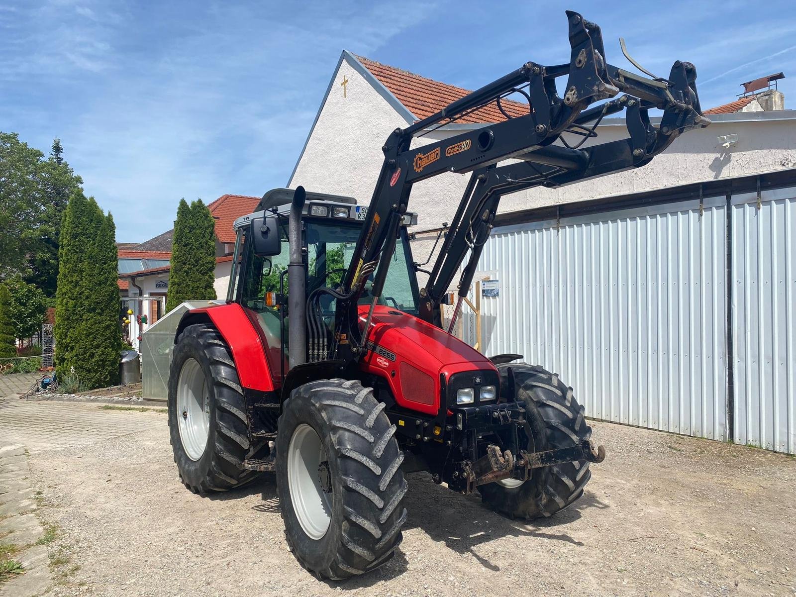
[[313, 381], [285, 402], [276, 441], [285, 536], [319, 579], [369, 572], [400, 544], [408, 485], [395, 431], [357, 380]]

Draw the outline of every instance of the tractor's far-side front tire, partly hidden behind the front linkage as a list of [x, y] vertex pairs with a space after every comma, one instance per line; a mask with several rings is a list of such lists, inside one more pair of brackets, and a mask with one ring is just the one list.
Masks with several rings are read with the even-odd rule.
[[[537, 365], [497, 365], [501, 396], [509, 391], [509, 369], [513, 369], [515, 398], [525, 402], [529, 421], [529, 451], [570, 447], [591, 438], [591, 427], [583, 418], [584, 408], [572, 396], [572, 388], [561, 383], [556, 373]], [[589, 462], [567, 462], [533, 469], [524, 483], [489, 483], [479, 486], [483, 501], [510, 517], [548, 517], [568, 508], [583, 495], [591, 471]]]

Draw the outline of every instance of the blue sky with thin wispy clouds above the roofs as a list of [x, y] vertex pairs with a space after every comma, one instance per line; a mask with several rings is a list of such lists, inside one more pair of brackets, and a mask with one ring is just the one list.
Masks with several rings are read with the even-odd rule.
[[[665, 6], [661, 10], [658, 6]], [[342, 49], [465, 88], [525, 60], [568, 60], [564, 9], [665, 76], [696, 64], [700, 99], [784, 71], [796, 107], [796, 3], [93, 2], [0, 0], [0, 131], [60, 137], [117, 240], [170, 228], [180, 197], [283, 186]]]

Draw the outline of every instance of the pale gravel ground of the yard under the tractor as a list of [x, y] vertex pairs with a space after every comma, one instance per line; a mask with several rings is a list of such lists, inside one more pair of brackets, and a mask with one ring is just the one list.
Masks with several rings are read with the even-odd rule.
[[526, 525], [408, 475], [404, 542], [321, 583], [287, 550], [273, 478], [199, 497], [160, 412], [145, 431], [31, 455], [49, 595], [796, 595], [796, 458], [592, 423], [608, 457], [571, 509]]

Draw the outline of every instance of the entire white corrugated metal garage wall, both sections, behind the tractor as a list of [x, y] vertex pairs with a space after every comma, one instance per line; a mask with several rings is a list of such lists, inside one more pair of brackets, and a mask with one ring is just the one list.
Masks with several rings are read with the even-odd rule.
[[736, 442], [796, 453], [793, 197], [732, 198], [732, 288], [725, 196], [497, 228], [484, 352], [560, 373], [595, 419], [726, 440], [729, 409]]

